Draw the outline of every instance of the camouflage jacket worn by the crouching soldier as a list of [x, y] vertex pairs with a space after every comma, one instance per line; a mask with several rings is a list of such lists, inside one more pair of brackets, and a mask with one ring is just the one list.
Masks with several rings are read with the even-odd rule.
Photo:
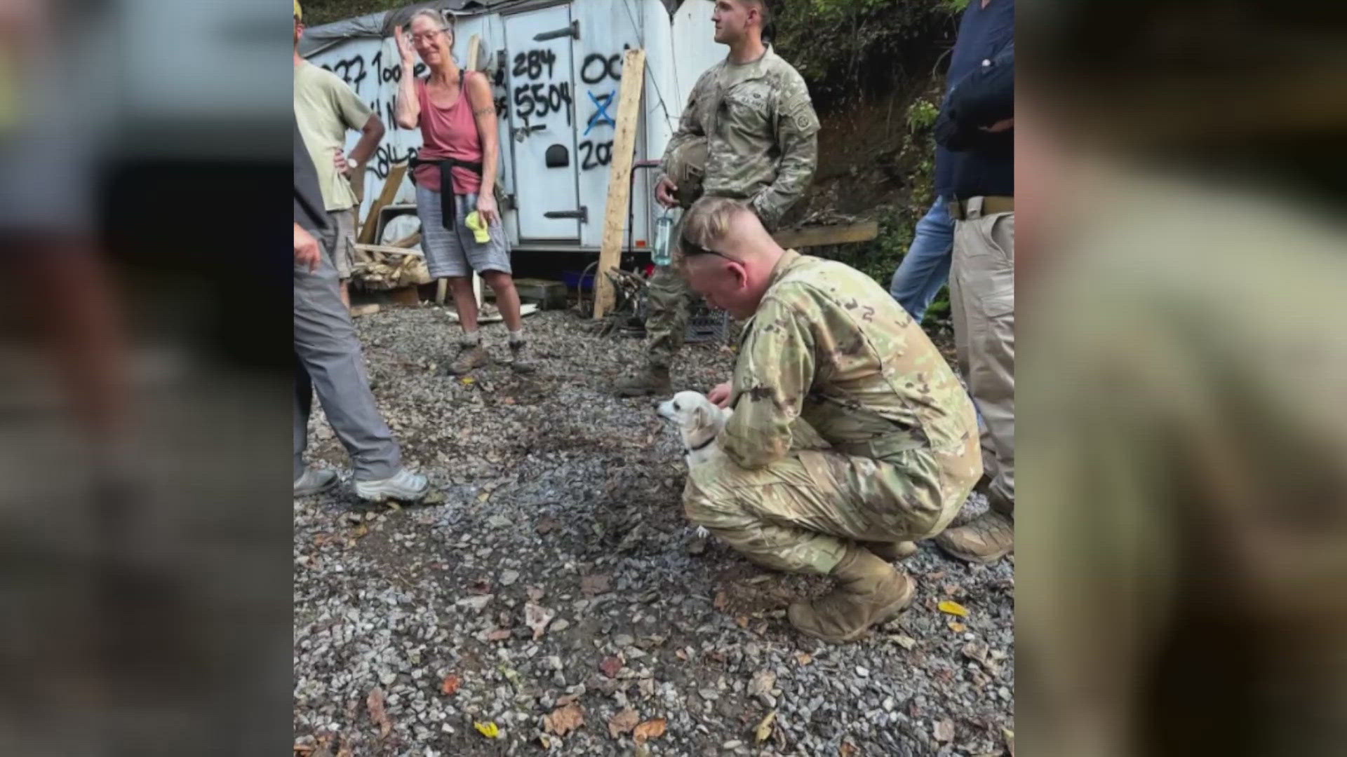
[[977, 445], [973, 401], [912, 317], [865, 273], [793, 251], [744, 329], [733, 385], [721, 445], [741, 467], [784, 457], [797, 418], [873, 459]]

